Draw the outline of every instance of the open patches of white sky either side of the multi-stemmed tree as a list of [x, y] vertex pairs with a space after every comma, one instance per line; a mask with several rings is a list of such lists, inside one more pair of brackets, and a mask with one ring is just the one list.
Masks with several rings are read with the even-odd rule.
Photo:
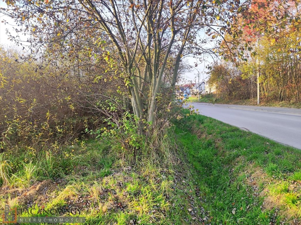
[[[0, 7], [2, 8], [6, 8], [7, 5], [5, 2], [0, 1]], [[8, 23], [10, 24], [14, 24], [14, 21], [11, 20], [9, 17], [3, 15], [0, 13], [0, 20], [6, 20], [8, 21]], [[10, 40], [8, 40], [8, 35], [6, 34], [6, 29], [8, 29], [12, 34], [14, 34], [14, 28], [9, 25], [9, 24], [4, 24], [4, 23], [0, 23], [0, 44], [2, 46], [5, 47], [16, 47], [16, 44]], [[203, 34], [204, 37], [206, 38], [206, 35]], [[25, 39], [25, 38], [24, 38]], [[208, 43], [205, 45], [205, 47], [212, 47], [214, 45], [214, 43]], [[21, 50], [21, 48], [20, 48]], [[212, 56], [205, 56], [204, 57], [204, 62], [200, 63], [197, 62], [197, 67], [195, 67], [195, 62], [196, 59], [192, 58], [192, 57], [185, 57], [185, 62], [188, 65], [191, 65], [192, 69], [190, 72], [186, 72], [185, 74], [182, 75], [182, 80], [179, 82], [179, 84], [183, 84], [183, 83], [195, 83], [198, 82], [198, 77], [197, 74], [199, 74], [200, 76], [200, 82], [203, 80], [206, 80], [208, 78], [208, 74], [206, 74], [206, 72], [208, 71], [205, 67], [206, 65], [214, 62], [214, 59], [212, 58]]]

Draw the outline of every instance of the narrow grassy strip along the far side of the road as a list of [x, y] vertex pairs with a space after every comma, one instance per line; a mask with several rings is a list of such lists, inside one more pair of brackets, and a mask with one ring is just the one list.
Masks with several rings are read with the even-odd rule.
[[[205, 103], [218, 103], [218, 104], [230, 104], [230, 105], [257, 105], [257, 99], [217, 99], [215, 101], [215, 96], [213, 94], [207, 94], [204, 96], [200, 96], [200, 101], [198, 101], [198, 97], [191, 96], [188, 101], [190, 102], [205, 102]], [[267, 106], [267, 107], [286, 107], [286, 108], [301, 108], [301, 102], [260, 102], [259, 106]]]

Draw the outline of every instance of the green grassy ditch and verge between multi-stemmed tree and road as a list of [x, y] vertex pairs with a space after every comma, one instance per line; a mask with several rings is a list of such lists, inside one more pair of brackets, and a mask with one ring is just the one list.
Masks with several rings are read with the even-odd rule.
[[300, 224], [300, 150], [202, 115], [176, 133], [212, 224]]

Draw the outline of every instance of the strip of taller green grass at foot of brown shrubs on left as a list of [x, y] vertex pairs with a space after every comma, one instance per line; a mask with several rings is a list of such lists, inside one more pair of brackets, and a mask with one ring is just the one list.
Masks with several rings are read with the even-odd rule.
[[40, 151], [31, 154], [25, 149], [7, 151], [0, 154], [0, 184], [29, 187], [35, 181], [72, 175], [81, 166], [106, 175], [113, 160], [104, 153], [107, 149], [109, 147], [104, 143], [89, 142], [83, 147], [69, 146], [57, 152]]

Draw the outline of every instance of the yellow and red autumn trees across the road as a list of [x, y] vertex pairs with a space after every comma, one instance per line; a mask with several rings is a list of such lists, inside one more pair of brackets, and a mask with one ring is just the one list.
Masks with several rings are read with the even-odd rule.
[[[300, 102], [301, 91], [301, 24], [299, 19], [300, 6], [293, 2], [286, 4], [295, 7], [290, 12], [296, 16], [286, 24], [277, 24], [277, 18], [270, 13], [279, 8], [276, 2], [259, 1], [248, 9], [247, 17], [240, 17], [240, 27], [244, 34], [240, 37], [226, 36], [220, 47], [225, 51], [221, 54], [222, 61], [212, 65], [209, 82], [216, 83], [217, 98], [253, 99], [257, 96], [257, 81], [259, 81], [259, 96], [265, 102]], [[281, 17], [286, 17], [285, 8], [279, 10]], [[298, 18], [298, 19], [297, 19]], [[262, 33], [262, 30], [268, 30]], [[239, 58], [231, 52], [229, 40], [236, 40], [235, 50], [245, 58]], [[245, 40], [253, 46], [244, 47]], [[229, 47], [230, 45], [230, 47]], [[232, 59], [232, 60], [229, 60]], [[259, 79], [257, 74], [259, 72]]]

